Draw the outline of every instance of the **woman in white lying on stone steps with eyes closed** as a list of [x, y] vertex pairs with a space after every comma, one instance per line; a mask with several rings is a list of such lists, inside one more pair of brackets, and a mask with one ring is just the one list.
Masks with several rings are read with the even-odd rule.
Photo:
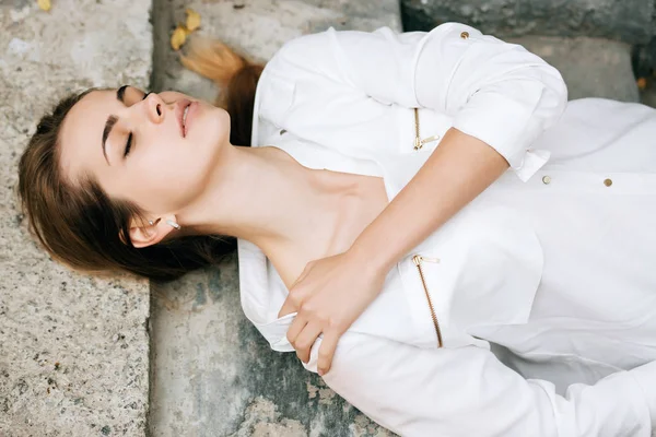
[[121, 87], [38, 125], [20, 192], [54, 257], [172, 279], [235, 237], [271, 346], [401, 435], [651, 435], [654, 109], [567, 105], [458, 23], [304, 36], [259, 81], [221, 45], [185, 62], [227, 111]]

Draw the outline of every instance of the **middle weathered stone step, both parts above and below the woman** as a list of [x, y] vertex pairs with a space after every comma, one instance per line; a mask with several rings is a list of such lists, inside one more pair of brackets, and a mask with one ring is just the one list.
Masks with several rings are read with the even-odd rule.
[[[184, 70], [168, 46], [185, 8], [202, 16], [199, 32], [258, 60], [286, 40], [336, 28], [399, 29], [396, 1], [159, 1], [154, 8], [153, 88], [213, 101], [216, 90]], [[153, 436], [390, 436], [280, 354], [243, 315], [237, 257], [152, 288], [150, 429]]]

